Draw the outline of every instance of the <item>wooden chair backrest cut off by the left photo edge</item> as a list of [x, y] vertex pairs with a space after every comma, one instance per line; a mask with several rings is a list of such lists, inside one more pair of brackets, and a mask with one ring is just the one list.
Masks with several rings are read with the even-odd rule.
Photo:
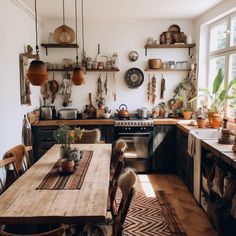
[[0, 194], [19, 177], [15, 162], [15, 156], [0, 160]]

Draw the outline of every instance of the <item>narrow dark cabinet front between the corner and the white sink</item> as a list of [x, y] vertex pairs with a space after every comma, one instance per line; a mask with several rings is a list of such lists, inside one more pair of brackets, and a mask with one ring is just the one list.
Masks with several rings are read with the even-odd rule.
[[193, 158], [188, 154], [188, 134], [177, 128], [176, 168], [177, 173], [193, 192]]

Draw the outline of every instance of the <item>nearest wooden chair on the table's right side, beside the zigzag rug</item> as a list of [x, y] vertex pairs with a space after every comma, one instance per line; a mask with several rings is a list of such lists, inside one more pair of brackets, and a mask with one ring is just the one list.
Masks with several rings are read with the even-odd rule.
[[[99, 233], [98, 235], [122, 236], [125, 219], [127, 217], [130, 204], [136, 192], [137, 176], [132, 169], [127, 169], [118, 181], [118, 188], [121, 191], [122, 198], [118, 207], [117, 214], [112, 217], [112, 223], [106, 225], [85, 225], [83, 233]], [[84, 235], [83, 234], [83, 235]], [[93, 235], [93, 234], [91, 234]]]

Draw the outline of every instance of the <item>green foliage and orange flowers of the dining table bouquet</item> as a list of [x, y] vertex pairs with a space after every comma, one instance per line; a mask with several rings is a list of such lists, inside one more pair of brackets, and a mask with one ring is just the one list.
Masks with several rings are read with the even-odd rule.
[[57, 141], [57, 143], [61, 144], [65, 158], [68, 158], [70, 155], [71, 144], [74, 143], [76, 139], [80, 139], [82, 134], [83, 129], [72, 129], [68, 125], [61, 125], [53, 132], [53, 138]]

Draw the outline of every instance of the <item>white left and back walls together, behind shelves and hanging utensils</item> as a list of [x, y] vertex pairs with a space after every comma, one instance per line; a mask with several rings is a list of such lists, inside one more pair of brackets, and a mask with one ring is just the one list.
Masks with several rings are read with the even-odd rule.
[[[22, 142], [22, 120], [24, 114], [32, 111], [40, 105], [40, 88], [31, 86], [32, 105], [26, 106], [20, 103], [20, 76], [19, 76], [19, 54], [24, 52], [25, 46], [31, 44], [35, 48], [35, 29], [34, 19], [26, 12], [22, 11], [14, 4], [16, 0], [2, 0], [0, 2], [0, 25], [1, 25], [1, 44], [0, 44], [0, 69], [1, 69], [1, 86], [0, 86], [0, 157], [10, 147]], [[44, 22], [43, 39], [40, 42], [46, 42], [48, 32], [54, 31], [61, 22]], [[68, 23], [69, 24], [69, 23]], [[138, 89], [130, 89], [124, 82], [124, 74], [131, 67], [138, 67], [144, 71], [148, 58], [159, 57], [163, 60], [186, 60], [188, 57], [187, 49], [172, 50], [150, 50], [148, 56], [144, 55], [144, 45], [147, 37], [158, 39], [159, 35], [168, 29], [172, 24], [178, 24], [181, 30], [186, 34], [193, 35], [192, 21], [185, 20], [126, 20], [126, 21], [85, 21], [85, 49], [87, 56], [95, 58], [97, 55], [97, 44], [101, 45], [101, 52], [112, 54], [117, 52], [119, 55], [120, 72], [116, 73], [117, 80], [117, 101], [113, 101], [111, 96], [107, 97], [108, 106], [113, 112], [121, 103], [128, 106], [129, 111], [135, 111], [138, 107], [151, 105], [147, 104], [147, 73], [145, 80]], [[74, 23], [72, 22], [74, 28]], [[79, 24], [79, 44], [81, 47], [81, 31]], [[40, 31], [39, 27], [39, 31]], [[139, 59], [136, 62], [128, 60], [128, 53], [136, 50], [139, 53]], [[49, 49], [49, 56], [46, 57], [45, 50], [40, 48], [41, 58], [53, 62], [61, 62], [63, 58], [75, 58], [73, 49]], [[102, 78], [104, 81], [104, 73]], [[52, 79], [52, 74], [49, 75]], [[56, 79], [61, 82], [61, 74], [55, 73]], [[73, 87], [73, 105], [80, 111], [84, 110], [85, 104], [88, 104], [88, 93], [92, 92], [93, 98], [96, 94], [97, 78], [99, 73], [90, 72], [86, 75], [86, 84], [81, 87]], [[153, 73], [151, 73], [153, 76]], [[160, 73], [157, 77], [157, 104], [166, 102], [173, 95], [175, 86], [186, 77], [185, 72], [166, 72], [165, 99], [160, 100]], [[109, 74], [108, 92], [112, 91], [111, 74]], [[57, 109], [61, 108], [62, 98], [57, 95]], [[95, 104], [94, 104], [95, 105]]]

